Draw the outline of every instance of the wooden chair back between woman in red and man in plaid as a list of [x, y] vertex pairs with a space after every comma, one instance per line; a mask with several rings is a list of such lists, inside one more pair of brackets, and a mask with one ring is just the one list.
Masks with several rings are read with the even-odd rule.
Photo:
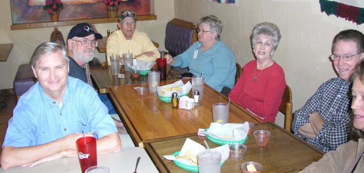
[[286, 85], [284, 89], [282, 102], [280, 105], [280, 112], [284, 114], [284, 129], [291, 132], [292, 124], [292, 91], [291, 88]]

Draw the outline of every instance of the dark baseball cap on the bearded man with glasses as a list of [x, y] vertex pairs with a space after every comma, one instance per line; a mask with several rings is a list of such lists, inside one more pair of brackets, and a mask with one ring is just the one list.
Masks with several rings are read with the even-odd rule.
[[69, 31], [67, 39], [72, 39], [73, 37], [85, 37], [88, 35], [95, 35], [96, 39], [102, 39], [102, 35], [95, 33], [94, 29], [88, 23], [79, 23], [74, 26], [71, 31]]

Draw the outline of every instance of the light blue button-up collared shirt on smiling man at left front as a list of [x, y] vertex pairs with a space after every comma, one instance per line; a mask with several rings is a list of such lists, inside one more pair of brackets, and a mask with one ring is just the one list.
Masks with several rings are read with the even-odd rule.
[[20, 97], [14, 108], [3, 146], [41, 145], [83, 131], [92, 132], [95, 138], [117, 132], [96, 91], [79, 79], [68, 77], [60, 108], [37, 82]]

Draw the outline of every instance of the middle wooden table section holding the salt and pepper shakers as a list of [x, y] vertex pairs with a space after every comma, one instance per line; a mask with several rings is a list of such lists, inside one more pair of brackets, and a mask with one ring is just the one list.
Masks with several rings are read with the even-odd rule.
[[[176, 80], [175, 80], [176, 81]], [[175, 81], [164, 81], [160, 86], [172, 84]], [[188, 80], [184, 80], [186, 83]], [[208, 128], [213, 122], [212, 104], [228, 103], [228, 99], [212, 87], [205, 85], [201, 106], [193, 110], [173, 109], [171, 103], [165, 103], [156, 95], [139, 99], [134, 87], [140, 85], [107, 87], [115, 109], [127, 128], [135, 145], [143, 147], [143, 142], [194, 134], [199, 128]], [[192, 97], [192, 92], [189, 95]], [[230, 103], [229, 122], [242, 121], [260, 122], [241, 106]]]

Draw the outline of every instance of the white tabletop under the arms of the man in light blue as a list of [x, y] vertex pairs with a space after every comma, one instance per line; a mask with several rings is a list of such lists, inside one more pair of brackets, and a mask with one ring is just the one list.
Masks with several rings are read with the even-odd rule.
[[[108, 167], [110, 173], [133, 173], [138, 156], [141, 157], [137, 169], [138, 173], [158, 173], [147, 152], [139, 147], [99, 155], [98, 165]], [[81, 173], [81, 167], [78, 157], [67, 157], [41, 163], [32, 168], [28, 166], [18, 166], [8, 170], [0, 168], [0, 173]]]

